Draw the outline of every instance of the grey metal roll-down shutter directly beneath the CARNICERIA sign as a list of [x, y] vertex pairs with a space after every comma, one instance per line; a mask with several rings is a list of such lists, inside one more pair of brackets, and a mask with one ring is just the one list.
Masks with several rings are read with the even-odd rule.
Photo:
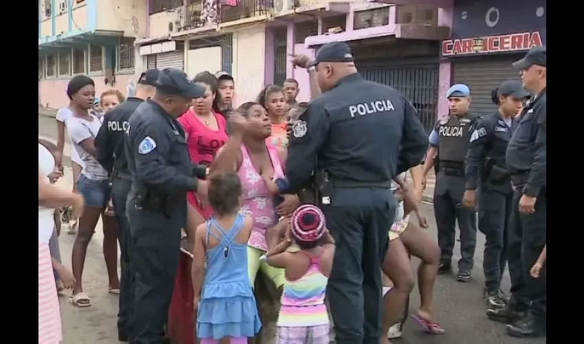
[[519, 80], [519, 71], [513, 69], [513, 62], [520, 54], [506, 56], [484, 56], [482, 58], [461, 58], [453, 61], [452, 83], [463, 83], [471, 89], [471, 111], [488, 114], [497, 109], [491, 100], [491, 91], [505, 80]]

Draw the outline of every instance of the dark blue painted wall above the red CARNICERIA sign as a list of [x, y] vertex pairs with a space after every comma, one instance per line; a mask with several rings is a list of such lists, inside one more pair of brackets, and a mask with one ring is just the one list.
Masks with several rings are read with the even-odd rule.
[[546, 44], [546, 0], [456, 0], [452, 38], [539, 31]]

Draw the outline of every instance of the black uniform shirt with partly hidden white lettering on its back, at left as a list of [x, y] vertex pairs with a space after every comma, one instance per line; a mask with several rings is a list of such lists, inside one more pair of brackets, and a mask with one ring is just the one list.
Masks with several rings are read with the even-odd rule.
[[97, 159], [111, 173], [113, 167], [119, 172], [129, 173], [124, 141], [128, 120], [144, 100], [128, 98], [124, 103], [104, 115], [104, 125], [96, 136]]

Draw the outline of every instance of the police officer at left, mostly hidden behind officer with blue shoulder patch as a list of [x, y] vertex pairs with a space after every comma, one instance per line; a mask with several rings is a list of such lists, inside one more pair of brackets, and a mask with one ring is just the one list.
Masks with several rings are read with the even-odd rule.
[[138, 79], [136, 94], [104, 116], [104, 125], [96, 136], [97, 159], [110, 173], [112, 179], [111, 202], [117, 222], [117, 238], [120, 241], [120, 309], [117, 313], [117, 337], [120, 341], [131, 338], [133, 308], [133, 284], [130, 264], [130, 227], [126, 218], [126, 197], [130, 192], [131, 175], [124, 151], [128, 120], [138, 105], [154, 94], [158, 69], [148, 69]]

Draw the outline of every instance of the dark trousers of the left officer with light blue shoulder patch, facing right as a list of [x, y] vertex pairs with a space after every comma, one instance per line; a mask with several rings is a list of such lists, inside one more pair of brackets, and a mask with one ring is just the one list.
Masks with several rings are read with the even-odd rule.
[[136, 206], [128, 197], [134, 272], [133, 344], [160, 344], [179, 266], [186, 203], [165, 216]]

